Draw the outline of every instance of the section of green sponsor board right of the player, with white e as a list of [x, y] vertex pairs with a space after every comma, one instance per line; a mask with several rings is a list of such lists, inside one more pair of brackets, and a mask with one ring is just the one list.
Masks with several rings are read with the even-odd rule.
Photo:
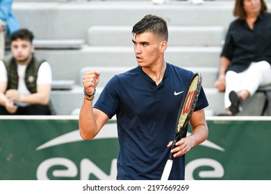
[[220, 148], [201, 145], [193, 148], [186, 157], [186, 173], [195, 162], [190, 170], [194, 179], [270, 180], [270, 119], [264, 116], [208, 119], [208, 141]]

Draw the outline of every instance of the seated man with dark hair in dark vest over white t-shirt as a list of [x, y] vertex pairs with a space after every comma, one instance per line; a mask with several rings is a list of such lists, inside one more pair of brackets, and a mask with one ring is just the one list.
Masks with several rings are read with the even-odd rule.
[[27, 29], [10, 36], [12, 55], [0, 61], [1, 115], [51, 114], [51, 67], [35, 57], [33, 37]]

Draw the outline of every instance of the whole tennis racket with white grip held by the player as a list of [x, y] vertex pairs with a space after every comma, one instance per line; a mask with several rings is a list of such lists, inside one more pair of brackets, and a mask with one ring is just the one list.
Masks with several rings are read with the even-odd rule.
[[[191, 78], [188, 89], [183, 96], [181, 101], [181, 108], [179, 109], [179, 114], [176, 121], [175, 134], [173, 138], [173, 143], [171, 150], [176, 147], [176, 142], [181, 140], [181, 136], [186, 132], [186, 127], [190, 121], [190, 117], [195, 109], [197, 99], [199, 98], [199, 92], [202, 88], [202, 75], [200, 73], [195, 73]], [[169, 159], [165, 164], [161, 180], [167, 180], [170, 176], [170, 171], [173, 164], [174, 153], [170, 153]]]

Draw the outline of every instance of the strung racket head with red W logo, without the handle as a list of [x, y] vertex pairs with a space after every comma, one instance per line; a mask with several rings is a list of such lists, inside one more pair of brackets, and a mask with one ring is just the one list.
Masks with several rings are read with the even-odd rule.
[[181, 138], [186, 131], [186, 126], [188, 125], [191, 115], [194, 112], [201, 89], [202, 74], [197, 72], [190, 79], [186, 92], [183, 95], [183, 100], [181, 101], [181, 107], [179, 109], [175, 127], [175, 134], [179, 138]]

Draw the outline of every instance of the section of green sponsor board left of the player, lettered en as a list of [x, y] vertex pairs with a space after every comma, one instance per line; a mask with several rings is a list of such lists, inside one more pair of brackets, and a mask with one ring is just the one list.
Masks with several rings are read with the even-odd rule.
[[69, 118], [1, 119], [0, 179], [115, 179], [118, 143], [106, 129], [110, 122], [107, 136], [92, 141], [81, 139], [78, 126]]

